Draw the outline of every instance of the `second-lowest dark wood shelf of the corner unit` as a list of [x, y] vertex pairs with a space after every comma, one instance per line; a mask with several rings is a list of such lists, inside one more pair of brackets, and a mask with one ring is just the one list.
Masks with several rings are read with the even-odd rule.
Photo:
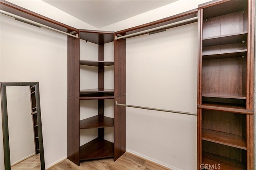
[[80, 120], [80, 129], [114, 127], [114, 119], [103, 115], [96, 115]]

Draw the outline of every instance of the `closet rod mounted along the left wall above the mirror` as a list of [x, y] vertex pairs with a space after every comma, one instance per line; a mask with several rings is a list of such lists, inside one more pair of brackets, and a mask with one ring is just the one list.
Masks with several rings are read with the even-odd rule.
[[15, 15], [15, 14], [12, 14], [12, 13], [10, 13], [10, 12], [6, 12], [6, 11], [4, 11], [4, 10], [0, 10], [0, 13], [1, 13], [1, 14], [5, 14], [5, 15], [7, 15], [7, 16], [14, 17], [14, 18], [16, 18], [16, 19], [18, 19], [18, 20], [22, 20], [22, 21], [31, 23], [31, 24], [36, 25], [36, 26], [44, 27], [44, 28], [47, 28], [47, 29], [51, 29], [51, 30], [53, 30], [53, 31], [57, 31], [57, 32], [59, 32], [59, 33], [63, 33], [63, 34], [69, 35], [69, 36], [71, 36], [71, 37], [78, 38], [78, 35], [72, 35], [72, 34], [70, 34], [70, 33], [66, 33], [66, 32], [64, 32], [64, 31], [60, 31], [60, 30], [58, 30], [58, 29], [55, 29], [55, 28], [52, 28], [52, 27], [48, 27], [48, 26], [43, 25], [43, 24], [41, 24], [41, 23], [28, 20], [28, 19], [26, 19], [26, 18], [17, 16], [17, 15]]

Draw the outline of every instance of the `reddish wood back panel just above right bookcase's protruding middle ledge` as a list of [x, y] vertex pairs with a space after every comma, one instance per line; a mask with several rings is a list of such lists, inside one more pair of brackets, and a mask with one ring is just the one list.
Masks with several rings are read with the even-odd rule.
[[[202, 64], [202, 93], [239, 94], [243, 91], [241, 58], [204, 60]], [[245, 87], [244, 87], [245, 88]]]

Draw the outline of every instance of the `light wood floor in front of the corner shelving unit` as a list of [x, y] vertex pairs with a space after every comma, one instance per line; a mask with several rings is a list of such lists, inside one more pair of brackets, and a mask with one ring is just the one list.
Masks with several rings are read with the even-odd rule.
[[80, 162], [80, 166], [77, 166], [67, 159], [48, 170], [168, 170], [168, 168], [126, 152], [115, 162], [113, 158], [107, 158]]

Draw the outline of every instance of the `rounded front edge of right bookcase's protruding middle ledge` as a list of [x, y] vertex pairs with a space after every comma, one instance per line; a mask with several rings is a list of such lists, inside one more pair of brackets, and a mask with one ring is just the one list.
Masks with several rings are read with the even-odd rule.
[[241, 113], [241, 114], [248, 114], [253, 115], [254, 111], [249, 109], [237, 109], [237, 108], [229, 108], [229, 107], [218, 107], [218, 106], [207, 106], [207, 105], [197, 105], [198, 109], [206, 109], [206, 110], [217, 110], [217, 111], [227, 111], [233, 113]]

